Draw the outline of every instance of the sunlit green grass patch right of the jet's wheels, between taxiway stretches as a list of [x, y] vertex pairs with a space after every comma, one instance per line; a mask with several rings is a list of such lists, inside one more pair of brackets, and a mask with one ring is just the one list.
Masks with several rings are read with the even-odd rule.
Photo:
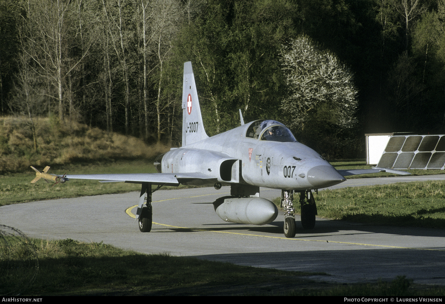
[[323, 190], [315, 198], [320, 217], [375, 225], [445, 229], [443, 181]]

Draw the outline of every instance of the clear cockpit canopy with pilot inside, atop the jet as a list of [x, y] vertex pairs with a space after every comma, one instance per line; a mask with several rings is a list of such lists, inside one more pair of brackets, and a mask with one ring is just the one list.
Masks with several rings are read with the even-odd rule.
[[291, 130], [275, 120], [257, 120], [247, 129], [246, 137], [273, 142], [296, 142]]

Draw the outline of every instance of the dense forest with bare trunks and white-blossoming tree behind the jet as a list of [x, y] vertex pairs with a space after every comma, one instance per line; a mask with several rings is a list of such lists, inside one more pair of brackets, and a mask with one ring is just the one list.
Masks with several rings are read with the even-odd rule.
[[238, 109], [331, 158], [445, 132], [445, 0], [0, 0], [0, 42], [3, 115], [180, 146], [192, 61], [209, 135]]

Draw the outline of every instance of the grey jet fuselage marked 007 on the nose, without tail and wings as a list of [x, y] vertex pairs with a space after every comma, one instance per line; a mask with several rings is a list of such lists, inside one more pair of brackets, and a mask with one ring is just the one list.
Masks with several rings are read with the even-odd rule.
[[162, 173], [205, 172], [211, 178], [208, 184], [218, 181], [287, 190], [319, 189], [345, 180], [320, 154], [300, 142], [260, 140], [261, 133], [258, 138], [249, 137], [249, 129], [257, 122], [167, 152]]

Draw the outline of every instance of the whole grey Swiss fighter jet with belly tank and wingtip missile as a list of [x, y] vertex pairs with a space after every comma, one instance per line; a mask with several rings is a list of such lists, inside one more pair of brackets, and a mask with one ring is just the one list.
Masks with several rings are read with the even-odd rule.
[[[102, 182], [142, 184], [136, 219], [141, 232], [152, 226], [152, 193], [162, 186], [230, 186], [230, 196], [214, 201], [214, 209], [227, 222], [265, 225], [278, 216], [271, 201], [261, 198], [259, 187], [281, 190], [284, 209], [284, 235], [295, 237], [294, 193], [299, 196], [301, 224], [315, 226], [317, 207], [312, 190], [344, 182], [344, 176], [390, 171], [388, 169], [336, 170], [320, 154], [298, 142], [291, 130], [281, 122], [260, 119], [209, 137], [202, 124], [191, 62], [184, 63], [182, 87], [182, 147], [171, 148], [156, 158], [159, 173], [152, 174], [87, 174], [57, 176], [36, 169], [36, 178], [54, 182], [69, 179], [95, 179]], [[152, 185], [158, 185], [152, 190]]]

